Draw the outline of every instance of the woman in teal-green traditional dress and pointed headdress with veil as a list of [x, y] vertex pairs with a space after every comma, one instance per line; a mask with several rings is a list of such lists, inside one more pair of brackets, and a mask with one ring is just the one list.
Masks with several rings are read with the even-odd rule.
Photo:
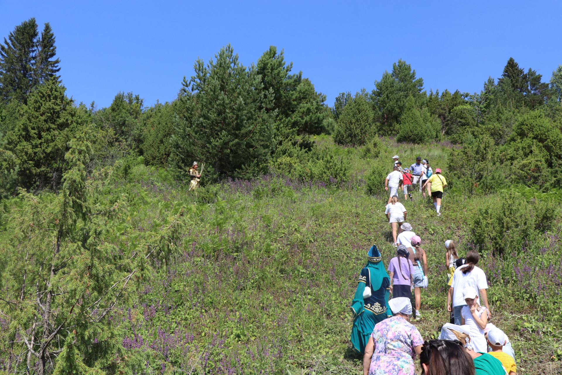
[[[350, 306], [355, 317], [351, 329], [351, 344], [353, 344], [353, 349], [361, 354], [365, 351], [365, 345], [373, 333], [375, 324], [392, 317], [392, 311], [388, 305], [390, 278], [384, 269], [377, 245], [373, 245], [369, 249], [367, 256], [369, 261], [361, 270], [359, 280], [357, 280], [357, 290]], [[366, 287], [371, 290], [370, 296], [369, 293], [364, 294]]]

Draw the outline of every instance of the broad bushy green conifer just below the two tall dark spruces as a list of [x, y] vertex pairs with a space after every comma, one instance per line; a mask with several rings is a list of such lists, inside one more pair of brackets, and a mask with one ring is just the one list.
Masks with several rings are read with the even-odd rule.
[[6, 149], [16, 157], [17, 184], [56, 188], [65, 170], [67, 142], [84, 130], [87, 118], [52, 78], [19, 108], [19, 121], [6, 134]]

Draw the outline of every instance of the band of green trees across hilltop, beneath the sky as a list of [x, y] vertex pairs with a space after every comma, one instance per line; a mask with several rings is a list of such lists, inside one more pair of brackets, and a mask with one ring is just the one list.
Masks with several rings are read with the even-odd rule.
[[0, 51], [0, 184], [8, 195], [17, 187], [57, 190], [69, 141], [79, 134], [92, 143], [90, 170], [142, 157], [181, 180], [193, 160], [202, 160], [206, 183], [289, 173], [297, 164], [309, 168], [295, 178], [341, 178], [335, 172], [341, 161], [310, 140], [321, 133], [352, 147], [376, 147], [377, 135], [462, 144], [450, 172], [469, 191], [509, 180], [540, 189], [560, 183], [562, 65], [549, 84], [509, 58], [501, 77], [488, 78], [479, 93], [428, 93], [399, 60], [373, 89], [343, 92], [330, 107], [282, 50], [271, 46], [256, 64], [243, 66], [229, 45], [207, 63], [197, 60], [172, 102], [146, 106], [139, 94], [119, 92], [98, 109], [67, 96], [49, 24], [39, 33], [34, 19], [22, 22]]

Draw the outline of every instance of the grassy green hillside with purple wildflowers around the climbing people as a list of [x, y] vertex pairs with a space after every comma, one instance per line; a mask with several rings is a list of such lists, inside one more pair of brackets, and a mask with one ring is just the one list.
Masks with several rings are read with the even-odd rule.
[[[383, 141], [375, 158], [362, 148], [334, 146], [328, 137], [316, 141], [343, 157], [348, 182], [330, 186], [268, 175], [201, 188], [195, 196], [164, 170], [134, 163], [121, 168], [123, 178], [105, 193], [108, 201], [126, 195], [128, 215], [115, 222], [108, 241], [134, 246], [182, 207], [188, 223], [181, 255], [162, 265], [127, 308], [132, 328], [125, 346], [155, 354], [147, 373], [361, 373], [361, 359], [348, 344], [357, 274], [373, 243], [385, 265], [395, 255], [383, 214], [387, 196], [382, 189], [366, 195], [366, 175], [374, 165], [390, 166], [398, 153], [405, 165], [417, 155], [428, 157], [447, 177], [451, 146]], [[448, 191], [440, 217], [428, 200], [414, 196], [405, 202], [407, 221], [422, 237], [429, 262], [423, 318], [415, 324], [429, 339], [448, 320], [443, 242], [454, 239], [464, 255], [473, 246], [474, 216], [487, 205], [502, 207], [511, 195]], [[522, 199], [534, 205], [540, 198]], [[560, 216], [551, 222], [540, 235], [536, 224], [522, 249], [502, 256], [483, 250], [478, 264], [490, 284], [491, 322], [513, 342], [522, 374], [562, 372]]]

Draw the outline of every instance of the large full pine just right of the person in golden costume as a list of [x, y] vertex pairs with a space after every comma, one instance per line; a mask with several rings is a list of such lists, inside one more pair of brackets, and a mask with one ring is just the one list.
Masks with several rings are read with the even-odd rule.
[[184, 79], [174, 119], [173, 162], [184, 178], [192, 162], [205, 161], [204, 181], [248, 178], [266, 170], [274, 146], [273, 93], [264, 92], [261, 75], [246, 69], [228, 45], [195, 75]]

